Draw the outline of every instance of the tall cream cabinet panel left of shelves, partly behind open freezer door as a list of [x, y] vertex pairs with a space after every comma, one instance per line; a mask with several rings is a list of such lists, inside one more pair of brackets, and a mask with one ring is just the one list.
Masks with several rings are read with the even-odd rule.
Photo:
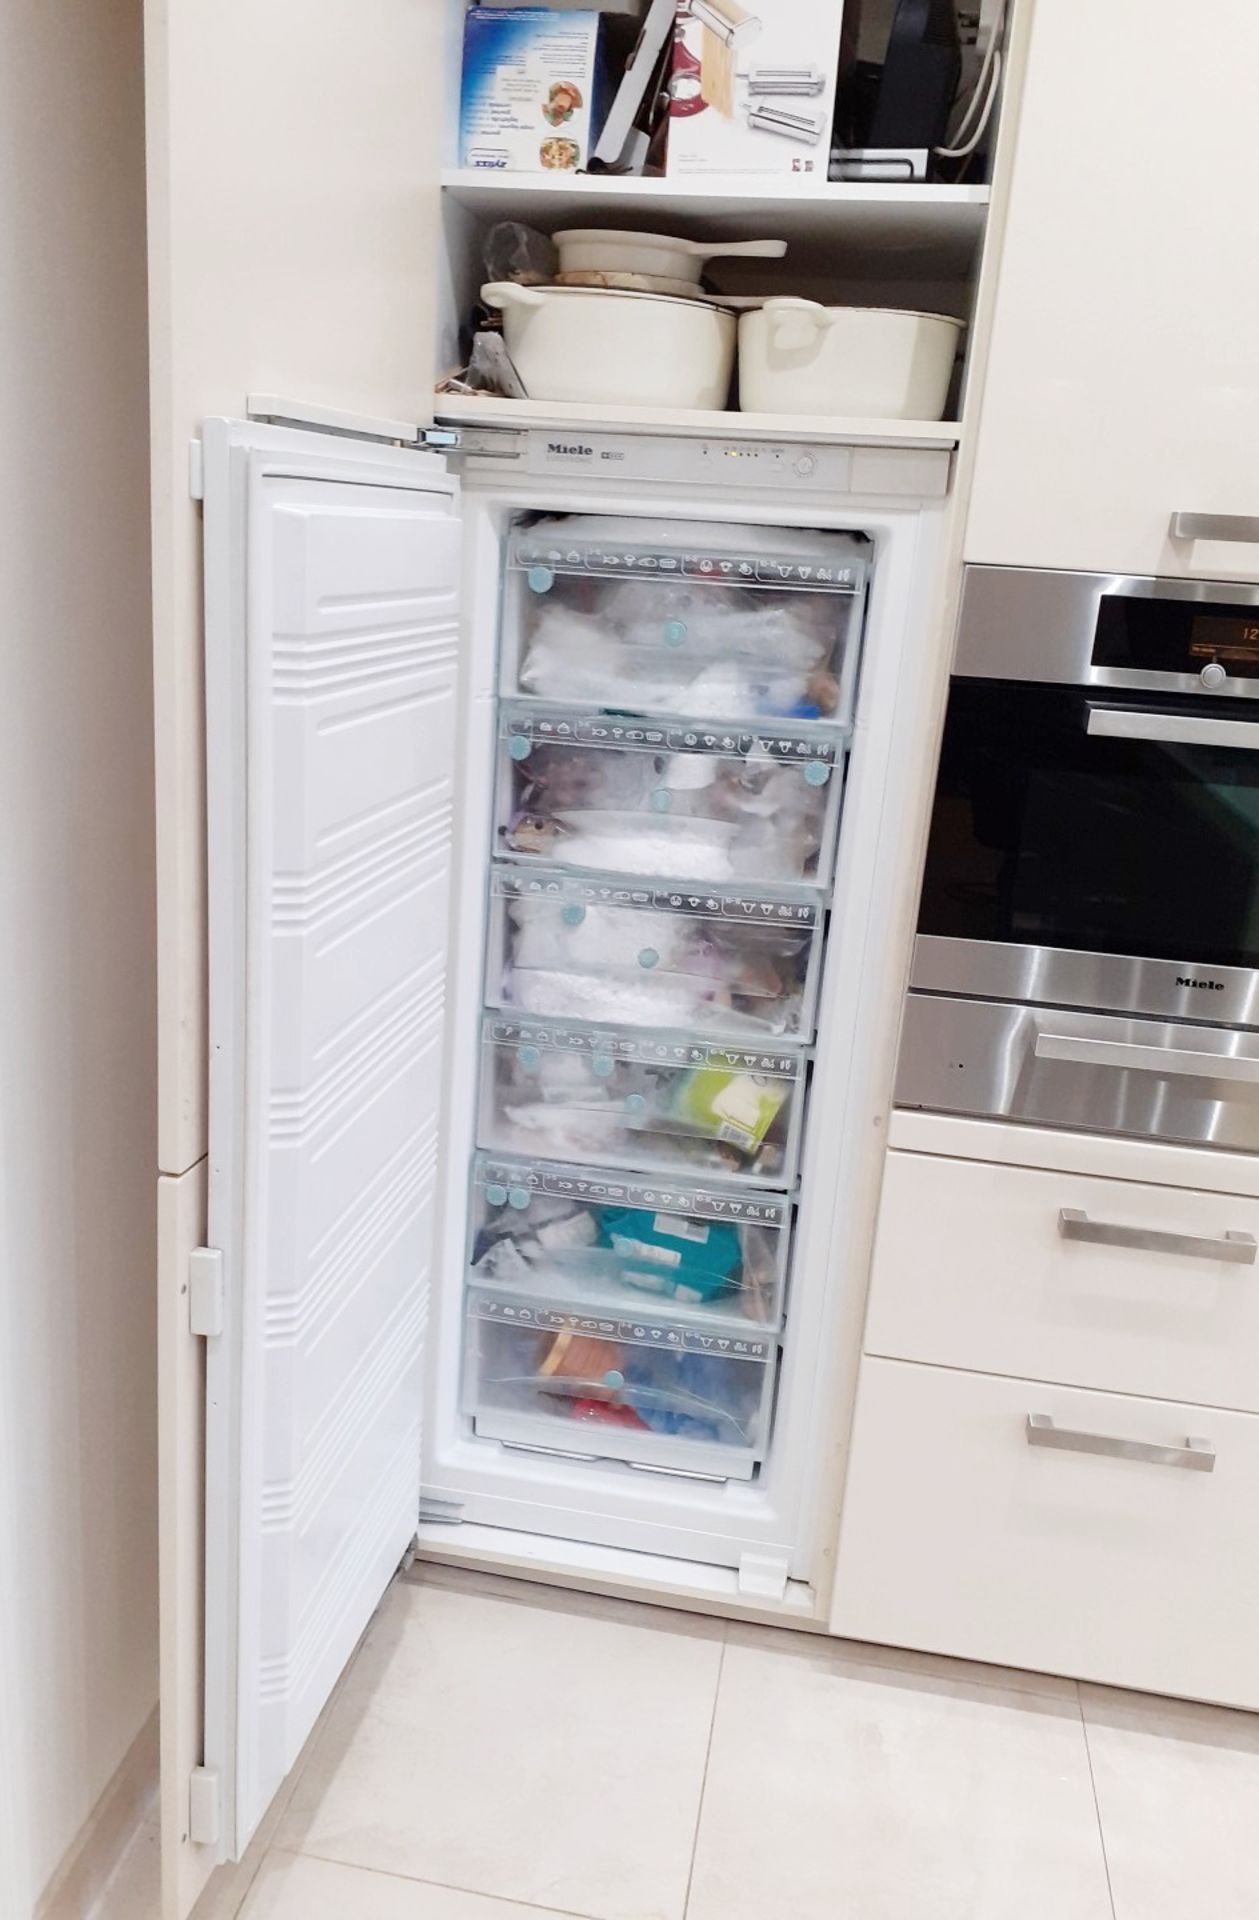
[[[146, 0], [159, 1165], [207, 1150], [202, 530], [190, 442], [251, 392], [416, 420], [432, 405], [438, 0]], [[200, 1745], [203, 1354], [180, 1183], [161, 1260], [163, 1832], [167, 1920], [215, 1859], [190, 1820]]]

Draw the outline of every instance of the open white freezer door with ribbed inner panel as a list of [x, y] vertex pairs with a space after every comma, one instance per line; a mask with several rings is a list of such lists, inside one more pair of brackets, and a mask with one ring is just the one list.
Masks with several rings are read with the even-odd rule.
[[418, 1519], [459, 492], [430, 453], [232, 420], [205, 426], [203, 492], [213, 1252], [194, 1300], [194, 1820], [200, 1799], [238, 1859]]

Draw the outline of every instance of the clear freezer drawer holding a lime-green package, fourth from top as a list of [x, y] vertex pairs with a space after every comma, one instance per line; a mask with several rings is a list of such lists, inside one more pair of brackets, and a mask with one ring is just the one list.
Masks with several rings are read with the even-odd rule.
[[795, 1185], [806, 1058], [582, 1021], [482, 1023], [480, 1148]]

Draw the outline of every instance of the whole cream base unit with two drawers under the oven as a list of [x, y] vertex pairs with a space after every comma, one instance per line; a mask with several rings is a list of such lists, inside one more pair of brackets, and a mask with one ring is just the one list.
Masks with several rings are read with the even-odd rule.
[[1259, 1707], [1247, 1154], [898, 1112], [833, 1626]]

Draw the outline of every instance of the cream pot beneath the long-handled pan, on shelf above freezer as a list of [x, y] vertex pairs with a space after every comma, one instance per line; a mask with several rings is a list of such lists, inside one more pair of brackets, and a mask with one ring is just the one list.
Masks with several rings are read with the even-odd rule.
[[724, 407], [735, 317], [699, 300], [585, 286], [482, 286], [530, 399]]

